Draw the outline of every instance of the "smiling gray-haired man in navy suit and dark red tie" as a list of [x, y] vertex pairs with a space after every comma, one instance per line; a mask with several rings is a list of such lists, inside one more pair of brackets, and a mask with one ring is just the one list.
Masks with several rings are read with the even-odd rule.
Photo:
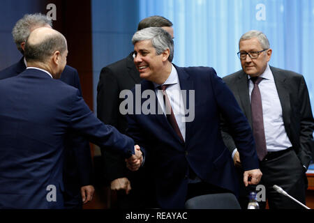
[[215, 70], [172, 64], [173, 40], [162, 28], [137, 31], [132, 42], [134, 63], [144, 80], [133, 89], [133, 100], [126, 101], [127, 134], [141, 146], [144, 165], [154, 164], [160, 208], [184, 208], [186, 199], [201, 194], [237, 194], [232, 158], [220, 134], [220, 114], [234, 129], [246, 170], [244, 183], [257, 184], [262, 173], [251, 128]]

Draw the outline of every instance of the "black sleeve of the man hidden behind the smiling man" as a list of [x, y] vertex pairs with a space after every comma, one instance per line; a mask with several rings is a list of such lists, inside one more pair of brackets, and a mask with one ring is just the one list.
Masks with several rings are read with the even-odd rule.
[[[97, 116], [103, 123], [118, 128], [119, 117], [119, 83], [110, 68], [100, 72], [97, 86]], [[119, 153], [100, 148], [105, 178], [110, 182], [126, 177], [126, 163]]]

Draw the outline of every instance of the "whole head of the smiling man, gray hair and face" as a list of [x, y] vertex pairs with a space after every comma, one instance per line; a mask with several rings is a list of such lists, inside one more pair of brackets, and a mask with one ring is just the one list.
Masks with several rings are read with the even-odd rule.
[[134, 63], [140, 77], [158, 83], [160, 72], [171, 66], [174, 43], [163, 28], [149, 27], [137, 31], [133, 38]]

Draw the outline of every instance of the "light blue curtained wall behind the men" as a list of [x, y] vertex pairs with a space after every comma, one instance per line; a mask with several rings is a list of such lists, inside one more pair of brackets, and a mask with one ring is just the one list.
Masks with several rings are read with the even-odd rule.
[[162, 15], [174, 24], [174, 63], [211, 66], [220, 77], [241, 69], [240, 36], [251, 29], [263, 31], [273, 49], [270, 65], [303, 74], [313, 108], [314, 0], [91, 2], [95, 108], [101, 68], [128, 55], [137, 23], [151, 15]]

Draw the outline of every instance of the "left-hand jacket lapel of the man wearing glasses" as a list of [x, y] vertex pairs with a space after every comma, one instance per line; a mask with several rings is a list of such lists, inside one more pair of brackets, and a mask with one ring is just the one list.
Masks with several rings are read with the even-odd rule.
[[245, 72], [241, 72], [237, 80], [237, 91], [241, 100], [241, 107], [252, 128], [252, 113], [250, 94], [248, 93], [248, 77]]

